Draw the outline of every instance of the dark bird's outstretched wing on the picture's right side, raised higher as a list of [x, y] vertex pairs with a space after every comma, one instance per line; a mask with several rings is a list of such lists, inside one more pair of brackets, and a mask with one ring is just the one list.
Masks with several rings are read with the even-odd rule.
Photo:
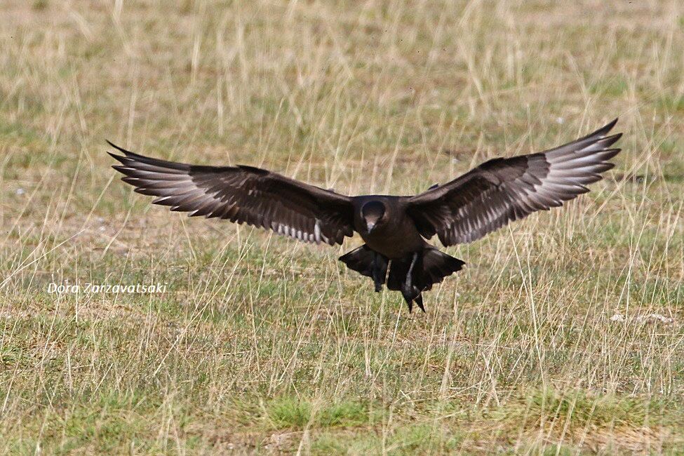
[[622, 133], [607, 136], [617, 119], [561, 147], [539, 154], [492, 159], [427, 192], [407, 199], [408, 213], [420, 234], [437, 234], [445, 246], [480, 239], [536, 210], [561, 206], [589, 192], [585, 186], [620, 149], [610, 149]]

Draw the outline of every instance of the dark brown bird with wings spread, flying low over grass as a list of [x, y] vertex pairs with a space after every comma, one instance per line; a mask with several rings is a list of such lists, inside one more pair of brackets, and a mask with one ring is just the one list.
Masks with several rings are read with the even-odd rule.
[[345, 196], [253, 166], [204, 166], [154, 159], [107, 143], [112, 166], [154, 204], [269, 229], [307, 243], [342, 245], [358, 233], [364, 244], [339, 260], [382, 286], [399, 291], [424, 312], [422, 293], [460, 271], [465, 262], [439, 250], [481, 239], [514, 220], [549, 210], [589, 192], [620, 152], [618, 119], [544, 152], [495, 158], [443, 185], [410, 196]]

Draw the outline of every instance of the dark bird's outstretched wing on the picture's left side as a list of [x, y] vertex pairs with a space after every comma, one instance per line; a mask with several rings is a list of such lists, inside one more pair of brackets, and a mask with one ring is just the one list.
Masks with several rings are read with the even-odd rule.
[[[109, 141], [107, 141], [109, 142]], [[110, 154], [135, 192], [189, 216], [220, 217], [305, 242], [342, 243], [353, 234], [349, 196], [252, 166], [195, 166], [123, 152]]]

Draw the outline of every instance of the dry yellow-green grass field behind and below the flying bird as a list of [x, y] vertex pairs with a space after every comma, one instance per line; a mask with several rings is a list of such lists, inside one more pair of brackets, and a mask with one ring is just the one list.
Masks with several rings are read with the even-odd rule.
[[[683, 453], [683, 13], [4, 0], [0, 451]], [[409, 194], [615, 116], [607, 178], [448, 248], [427, 314], [337, 262], [358, 238], [169, 213], [105, 154]], [[88, 282], [166, 293], [48, 293]]]

